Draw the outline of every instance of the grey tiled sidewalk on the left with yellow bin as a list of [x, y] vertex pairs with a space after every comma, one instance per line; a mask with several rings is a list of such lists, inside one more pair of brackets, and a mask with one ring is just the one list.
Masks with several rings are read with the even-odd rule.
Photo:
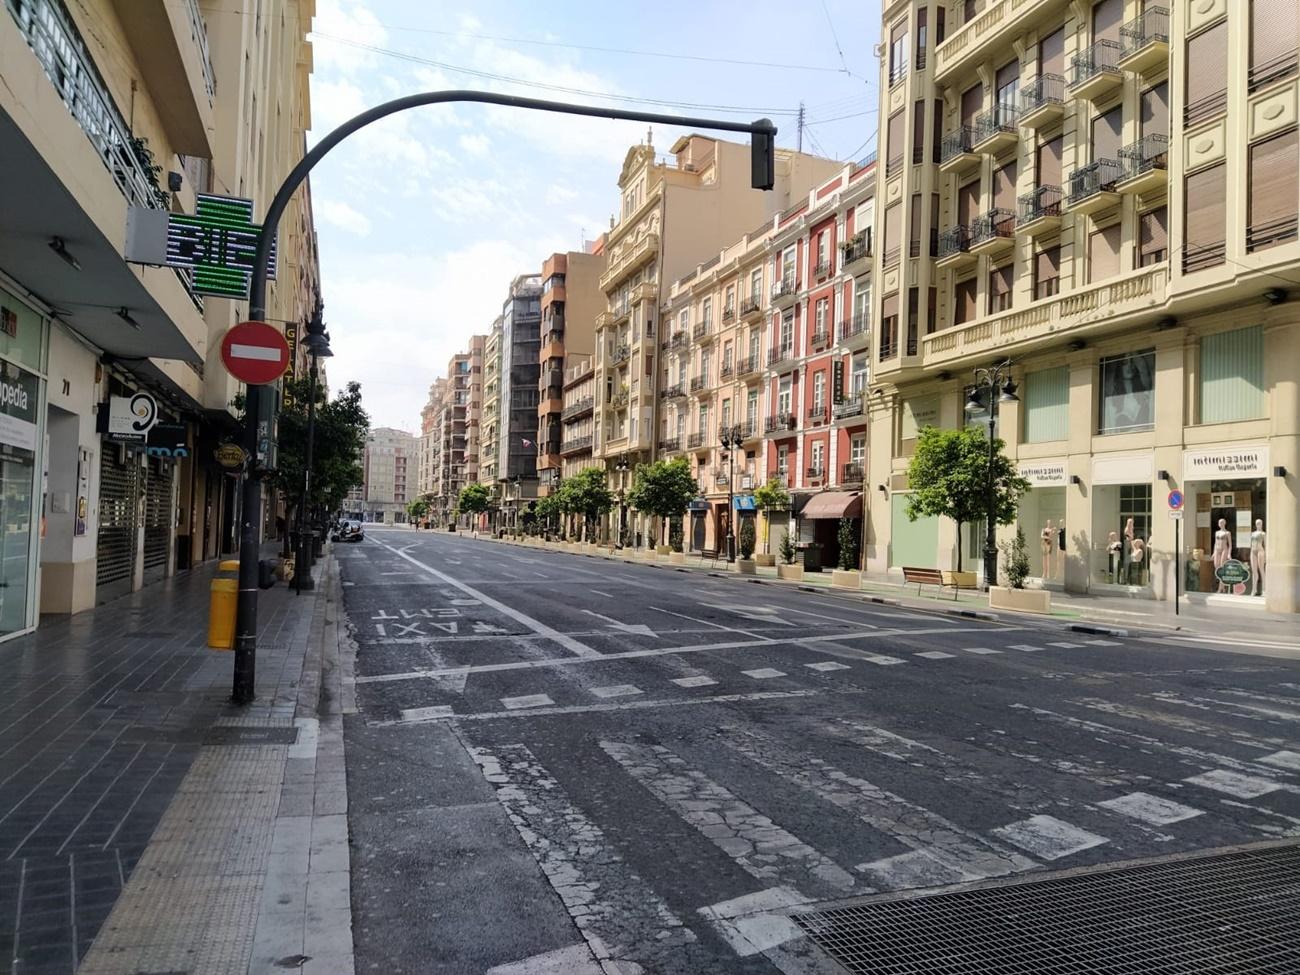
[[209, 571], [0, 645], [0, 972], [352, 971], [352, 702], [318, 572], [261, 594], [242, 710]]

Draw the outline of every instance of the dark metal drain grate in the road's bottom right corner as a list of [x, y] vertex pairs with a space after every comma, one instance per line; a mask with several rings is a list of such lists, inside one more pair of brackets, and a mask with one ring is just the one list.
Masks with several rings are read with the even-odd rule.
[[794, 915], [871, 975], [1295, 975], [1300, 845], [1022, 879]]

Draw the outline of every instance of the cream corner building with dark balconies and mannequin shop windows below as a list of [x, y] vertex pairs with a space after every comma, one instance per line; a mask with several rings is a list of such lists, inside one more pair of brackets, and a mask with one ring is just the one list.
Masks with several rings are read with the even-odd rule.
[[[1300, 608], [1296, 16], [885, 5], [870, 569], [978, 563], [982, 526], [906, 519], [905, 468], [992, 415], [1043, 585]], [[971, 400], [1002, 360], [1015, 400]]]

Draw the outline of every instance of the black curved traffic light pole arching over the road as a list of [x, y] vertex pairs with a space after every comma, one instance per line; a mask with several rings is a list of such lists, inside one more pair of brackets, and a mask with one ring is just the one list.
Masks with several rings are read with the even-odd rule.
[[[266, 315], [266, 264], [270, 257], [270, 242], [276, 228], [289, 205], [294, 192], [325, 155], [352, 133], [364, 129], [370, 122], [404, 112], [408, 108], [437, 105], [450, 101], [477, 101], [508, 108], [526, 108], [534, 112], [555, 112], [589, 118], [616, 118], [632, 122], [659, 122], [686, 129], [714, 129], [729, 133], [749, 133], [750, 135], [750, 183], [755, 190], [771, 190], [776, 181], [776, 126], [768, 118], [754, 122], [733, 122], [719, 118], [697, 118], [692, 116], [671, 116], [660, 112], [633, 112], [619, 108], [599, 108], [595, 105], [573, 105], [566, 101], [529, 99], [519, 95], [499, 95], [491, 91], [425, 91], [407, 95], [393, 101], [385, 101], [361, 112], [355, 118], [343, 122], [321, 139], [285, 177], [280, 190], [266, 208], [261, 221], [261, 235], [257, 240], [257, 254], [252, 263], [252, 285], [248, 294], [248, 317], [261, 321]], [[265, 422], [269, 436], [272, 407], [269, 395], [261, 386], [248, 386], [244, 410], [244, 447], [248, 450], [248, 473], [243, 485], [243, 517], [239, 525], [239, 601], [235, 616], [235, 666], [234, 692], [237, 705], [247, 705], [254, 699], [257, 655], [257, 554], [261, 541], [261, 458], [259, 452], [259, 424]]]

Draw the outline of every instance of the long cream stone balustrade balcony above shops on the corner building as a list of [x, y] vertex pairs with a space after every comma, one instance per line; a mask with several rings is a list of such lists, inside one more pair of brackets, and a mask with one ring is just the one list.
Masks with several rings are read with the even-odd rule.
[[926, 369], [978, 363], [991, 355], [1022, 355], [1034, 347], [1057, 347], [1070, 333], [1091, 325], [1108, 330], [1148, 325], [1160, 315], [1169, 289], [1169, 268], [1156, 264], [1123, 277], [1034, 302], [1027, 308], [923, 335]]

